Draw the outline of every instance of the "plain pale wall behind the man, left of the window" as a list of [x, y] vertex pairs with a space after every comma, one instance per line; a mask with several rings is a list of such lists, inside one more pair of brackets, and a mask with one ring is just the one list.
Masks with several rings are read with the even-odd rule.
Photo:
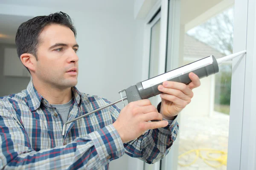
[[[90, 6], [86, 1], [84, 6]], [[70, 7], [72, 8], [72, 7]], [[79, 44], [78, 89], [87, 94], [120, 99], [119, 90], [141, 80], [143, 23], [134, 20], [133, 6], [125, 12], [88, 9], [73, 11], [64, 8], [43, 8], [0, 5], [0, 14], [37, 16], [63, 11], [75, 21]], [[122, 105], [118, 105], [121, 106]], [[128, 156], [110, 164], [111, 170], [126, 170]]]

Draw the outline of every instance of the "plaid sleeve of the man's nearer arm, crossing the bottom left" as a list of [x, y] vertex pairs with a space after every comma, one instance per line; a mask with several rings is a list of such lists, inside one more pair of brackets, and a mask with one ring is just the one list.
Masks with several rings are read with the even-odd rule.
[[124, 153], [113, 125], [65, 146], [36, 152], [23, 126], [0, 105], [0, 169], [99, 169]]

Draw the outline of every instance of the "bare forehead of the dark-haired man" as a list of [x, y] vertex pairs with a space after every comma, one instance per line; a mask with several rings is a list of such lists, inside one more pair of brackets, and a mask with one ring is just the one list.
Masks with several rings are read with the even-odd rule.
[[77, 44], [73, 31], [67, 26], [52, 24], [44, 27], [40, 36], [41, 43], [53, 45], [55, 43], [64, 43], [67, 45]]

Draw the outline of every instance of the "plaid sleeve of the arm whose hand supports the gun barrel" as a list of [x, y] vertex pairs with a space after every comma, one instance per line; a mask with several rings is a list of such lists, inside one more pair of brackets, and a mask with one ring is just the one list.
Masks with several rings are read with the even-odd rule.
[[[115, 122], [120, 110], [116, 106], [112, 106], [109, 109], [113, 122]], [[169, 125], [166, 127], [148, 130], [139, 138], [125, 143], [125, 153], [148, 164], [154, 164], [163, 159], [169, 153], [179, 128], [177, 117], [173, 121], [168, 122]]]

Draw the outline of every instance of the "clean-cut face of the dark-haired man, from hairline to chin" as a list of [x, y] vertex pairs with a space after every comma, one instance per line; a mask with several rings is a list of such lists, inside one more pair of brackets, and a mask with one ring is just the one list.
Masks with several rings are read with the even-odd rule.
[[35, 65], [37, 80], [61, 89], [75, 86], [79, 58], [73, 31], [66, 26], [52, 24], [44, 28], [39, 41]]

